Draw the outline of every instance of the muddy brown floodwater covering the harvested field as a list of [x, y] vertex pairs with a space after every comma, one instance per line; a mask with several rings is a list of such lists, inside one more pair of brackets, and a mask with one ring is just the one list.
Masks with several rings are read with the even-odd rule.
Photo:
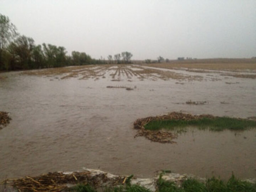
[[[126, 69], [133, 67], [143, 71]], [[256, 129], [189, 130], [177, 144], [134, 138], [133, 129], [138, 118], [172, 111], [256, 116], [255, 79], [185, 71], [180, 72], [200, 78], [158, 78], [157, 71], [142, 78], [124, 70], [113, 77], [111, 70], [104, 78], [86, 79], [1, 73], [7, 78], [0, 80], [0, 110], [10, 112], [12, 120], [0, 131], [0, 180], [83, 167], [139, 177], [171, 170], [223, 179], [233, 171], [240, 178], [256, 178]], [[185, 104], [188, 100], [207, 103]]]

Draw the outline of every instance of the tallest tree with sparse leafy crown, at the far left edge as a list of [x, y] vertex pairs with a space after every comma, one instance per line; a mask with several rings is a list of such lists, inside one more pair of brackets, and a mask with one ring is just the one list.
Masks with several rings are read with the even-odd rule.
[[[0, 14], [0, 69], [3, 68], [2, 53], [7, 44], [10, 43], [18, 33], [16, 27], [9, 20], [9, 17]], [[6, 54], [5, 54], [6, 55]]]

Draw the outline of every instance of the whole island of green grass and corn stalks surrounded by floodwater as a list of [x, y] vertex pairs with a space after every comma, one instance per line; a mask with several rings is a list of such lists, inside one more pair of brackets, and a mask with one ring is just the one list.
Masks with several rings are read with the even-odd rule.
[[[210, 131], [232, 130], [240, 131], [256, 127], [255, 120], [218, 117], [213, 115], [191, 115], [172, 112], [167, 115], [137, 119], [134, 128], [138, 136], [159, 143], [176, 143], [177, 133], [186, 131], [188, 127]], [[166, 131], [163, 131], [166, 130]]]

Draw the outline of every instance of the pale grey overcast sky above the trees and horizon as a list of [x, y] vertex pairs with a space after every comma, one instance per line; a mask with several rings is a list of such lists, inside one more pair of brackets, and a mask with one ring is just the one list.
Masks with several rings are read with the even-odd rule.
[[256, 0], [0, 0], [36, 44], [98, 59], [256, 56]]

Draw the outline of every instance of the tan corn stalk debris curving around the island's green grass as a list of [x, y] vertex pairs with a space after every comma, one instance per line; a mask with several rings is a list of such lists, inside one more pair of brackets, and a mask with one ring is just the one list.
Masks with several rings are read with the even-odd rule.
[[167, 115], [162, 116], [155, 116], [155, 117], [146, 117], [142, 119], [137, 119], [133, 127], [134, 129], [137, 129], [137, 134], [134, 136], [144, 136], [145, 138], [149, 139], [150, 141], [159, 142], [159, 143], [176, 143], [175, 141], [172, 141], [172, 139], [177, 138], [177, 135], [171, 132], [167, 131], [151, 131], [146, 130], [144, 128], [144, 125], [146, 125], [150, 121], [154, 120], [195, 120], [195, 119], [202, 119], [203, 117], [207, 118], [214, 118], [213, 115], [191, 115], [186, 113], [177, 113], [172, 112]]

